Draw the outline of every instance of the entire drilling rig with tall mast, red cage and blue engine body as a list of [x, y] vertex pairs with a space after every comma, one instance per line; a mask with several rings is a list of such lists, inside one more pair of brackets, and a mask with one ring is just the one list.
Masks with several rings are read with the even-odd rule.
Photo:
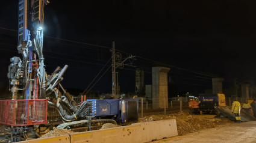
[[46, 0], [19, 0], [17, 50], [10, 59], [8, 79], [11, 100], [0, 100], [0, 124], [11, 142], [37, 137], [53, 127], [87, 131], [104, 123], [138, 120], [137, 99], [92, 99], [76, 103], [60, 84], [63, 68], [47, 74], [43, 56], [43, 19]]

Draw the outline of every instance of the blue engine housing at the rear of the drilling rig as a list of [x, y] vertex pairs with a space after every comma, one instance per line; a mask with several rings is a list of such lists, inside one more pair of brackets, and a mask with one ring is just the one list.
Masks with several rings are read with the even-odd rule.
[[137, 99], [88, 99], [92, 101], [91, 115], [126, 123], [138, 121], [139, 101]]

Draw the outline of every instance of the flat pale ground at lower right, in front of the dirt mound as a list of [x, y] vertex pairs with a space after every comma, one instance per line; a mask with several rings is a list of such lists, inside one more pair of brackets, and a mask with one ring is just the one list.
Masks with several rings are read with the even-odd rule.
[[256, 121], [245, 123], [228, 123], [211, 129], [199, 130], [195, 133], [188, 133], [183, 136], [161, 139], [152, 143], [163, 142], [217, 142], [217, 143], [236, 143], [236, 142], [256, 142]]

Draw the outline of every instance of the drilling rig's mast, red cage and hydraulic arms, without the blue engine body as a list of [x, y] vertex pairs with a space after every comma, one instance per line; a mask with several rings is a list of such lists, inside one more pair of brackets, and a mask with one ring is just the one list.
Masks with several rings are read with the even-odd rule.
[[[28, 130], [40, 136], [39, 126], [55, 121], [47, 119], [48, 108], [60, 114], [61, 123], [89, 115], [90, 102], [78, 106], [60, 85], [68, 66], [57, 67], [51, 75], [45, 71], [43, 8], [48, 3], [46, 0], [19, 0], [17, 50], [22, 59], [19, 56], [10, 59], [7, 76], [12, 100], [0, 100], [0, 123], [7, 125], [11, 142], [27, 139]], [[64, 91], [63, 95], [58, 86]]]

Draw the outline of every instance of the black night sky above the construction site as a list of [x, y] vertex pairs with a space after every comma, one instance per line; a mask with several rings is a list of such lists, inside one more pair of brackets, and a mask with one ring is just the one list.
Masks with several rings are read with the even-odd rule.
[[[185, 69], [170, 67], [169, 76], [179, 91], [211, 88], [209, 78], [212, 76], [206, 75], [224, 78], [224, 87], [233, 85], [234, 78], [239, 82], [253, 82], [256, 78], [255, 3], [52, 0], [45, 7], [46, 70], [51, 73], [58, 65], [68, 64], [70, 68], [64, 75], [63, 85], [84, 90], [111, 56], [105, 47], [111, 47], [112, 41], [116, 41], [117, 50]], [[17, 1], [1, 2], [1, 28], [17, 30], [17, 9]], [[7, 51], [16, 50], [17, 33], [1, 28], [0, 87], [7, 87], [8, 61], [20, 55]], [[122, 56], [127, 55], [122, 53]], [[151, 67], [161, 64], [139, 57], [133, 65], [145, 70], [145, 84], [151, 84]], [[121, 90], [134, 91], [135, 68], [126, 68], [130, 70], [118, 70]], [[111, 92], [110, 70], [93, 90]]]

